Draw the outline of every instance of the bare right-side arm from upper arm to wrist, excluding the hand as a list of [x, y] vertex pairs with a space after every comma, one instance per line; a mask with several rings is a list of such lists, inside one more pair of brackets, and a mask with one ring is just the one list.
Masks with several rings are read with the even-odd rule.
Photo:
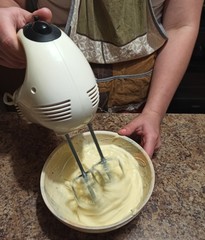
[[167, 0], [163, 26], [168, 42], [157, 57], [144, 111], [161, 119], [186, 71], [198, 35], [202, 0]]

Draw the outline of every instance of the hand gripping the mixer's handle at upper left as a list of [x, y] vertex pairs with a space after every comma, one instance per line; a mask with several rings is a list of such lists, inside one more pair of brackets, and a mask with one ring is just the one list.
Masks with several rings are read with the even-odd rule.
[[23, 48], [17, 38], [17, 31], [34, 16], [50, 22], [51, 11], [47, 8], [30, 13], [19, 7], [0, 8], [0, 65], [9, 68], [25, 68], [26, 59]]

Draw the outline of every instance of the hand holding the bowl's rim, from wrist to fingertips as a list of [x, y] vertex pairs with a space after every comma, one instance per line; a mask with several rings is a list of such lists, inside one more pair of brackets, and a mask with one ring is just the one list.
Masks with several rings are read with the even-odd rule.
[[161, 145], [161, 117], [155, 112], [142, 112], [130, 123], [118, 131], [120, 135], [136, 134], [141, 139], [141, 146], [152, 157]]

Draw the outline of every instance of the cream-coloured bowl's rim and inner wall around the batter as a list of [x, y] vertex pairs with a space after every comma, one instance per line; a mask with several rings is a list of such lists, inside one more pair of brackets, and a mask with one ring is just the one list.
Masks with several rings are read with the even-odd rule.
[[[109, 131], [95, 131], [95, 135], [102, 148], [104, 146], [109, 147], [111, 144], [114, 144], [115, 147], [123, 149], [123, 151], [130, 154], [130, 156], [137, 161], [139, 174], [142, 179], [143, 193], [140, 201], [137, 203], [137, 206], [132, 209], [131, 214], [130, 210], [127, 210], [129, 212], [127, 212], [125, 217], [122, 219], [118, 219], [115, 222], [107, 225], [104, 224], [102, 226], [90, 226], [89, 224], [82, 224], [80, 222], [73, 221], [72, 218], [70, 218], [70, 210], [67, 211], [66, 209], [69, 203], [66, 200], [67, 196], [63, 190], [65, 188], [65, 178], [62, 178], [62, 175], [65, 176], [65, 174], [72, 174], [74, 169], [72, 169], [73, 167], [69, 161], [74, 160], [72, 160], [72, 152], [66, 141], [60, 144], [50, 154], [45, 162], [40, 178], [40, 189], [43, 200], [48, 209], [55, 217], [57, 217], [68, 227], [81, 232], [102, 233], [123, 227], [139, 214], [153, 192], [155, 172], [149, 156], [135, 141], [128, 137], [120, 136], [117, 133]], [[89, 132], [76, 135], [72, 138], [72, 143], [75, 146], [79, 156], [81, 156], [81, 150], [83, 149], [83, 146], [91, 142], [93, 142], [93, 140]], [[61, 204], [62, 200], [64, 200], [65, 204]]]

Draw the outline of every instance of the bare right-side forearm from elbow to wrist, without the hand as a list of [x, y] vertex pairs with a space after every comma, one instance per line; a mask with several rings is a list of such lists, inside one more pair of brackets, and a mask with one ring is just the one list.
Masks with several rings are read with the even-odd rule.
[[197, 33], [197, 28], [188, 26], [168, 32], [169, 40], [156, 60], [145, 110], [164, 116], [187, 69]]

